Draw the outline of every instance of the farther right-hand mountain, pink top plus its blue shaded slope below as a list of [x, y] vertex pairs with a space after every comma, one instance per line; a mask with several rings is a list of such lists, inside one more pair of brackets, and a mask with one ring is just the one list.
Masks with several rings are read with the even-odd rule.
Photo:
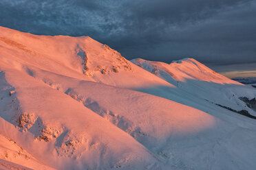
[[[207, 104], [198, 105], [198, 103], [207, 101], [207, 103], [227, 106], [234, 110], [247, 110], [256, 116], [256, 112], [239, 99], [241, 97], [253, 99], [256, 96], [253, 87], [244, 86], [244, 84], [215, 73], [193, 58], [185, 58], [171, 64], [142, 59], [134, 59], [132, 62], [178, 88], [177, 90], [160, 87], [157, 91], [148, 88], [140, 89], [144, 92], [172, 99], [204, 111], [209, 111], [207, 108], [202, 108]], [[167, 90], [169, 93], [166, 92]], [[173, 96], [173, 93], [178, 93], [182, 99]], [[185, 101], [184, 98], [190, 101]]]

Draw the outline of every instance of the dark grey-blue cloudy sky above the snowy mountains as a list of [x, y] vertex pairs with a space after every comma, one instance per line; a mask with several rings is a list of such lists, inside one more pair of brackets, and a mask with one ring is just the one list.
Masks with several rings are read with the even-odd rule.
[[255, 18], [256, 0], [0, 0], [3, 27], [90, 36], [129, 60], [195, 58], [233, 77], [256, 77]]

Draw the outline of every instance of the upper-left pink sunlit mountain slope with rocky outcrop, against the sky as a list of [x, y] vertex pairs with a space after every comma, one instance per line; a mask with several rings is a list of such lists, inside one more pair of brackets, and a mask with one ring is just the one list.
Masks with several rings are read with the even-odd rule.
[[12, 56], [2, 60], [19, 70], [29, 72], [28, 66], [36, 66], [60, 75], [122, 87], [171, 86], [89, 36], [35, 36], [5, 27], [0, 27], [0, 32], [2, 56]]

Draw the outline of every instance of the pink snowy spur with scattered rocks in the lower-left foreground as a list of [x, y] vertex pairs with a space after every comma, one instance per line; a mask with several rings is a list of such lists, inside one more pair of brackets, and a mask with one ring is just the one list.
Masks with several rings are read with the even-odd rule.
[[[16, 86], [17, 99], [23, 112], [33, 113], [14, 115], [17, 121], [13, 125], [17, 125], [23, 135], [32, 134], [32, 145], [27, 148], [32, 153], [38, 151], [33, 143], [49, 143], [42, 144], [48, 149], [47, 156], [39, 156], [51, 167], [103, 169], [115, 167], [120, 160], [128, 159], [118, 166], [132, 169], [134, 166], [141, 167], [158, 162], [131, 136], [71, 97], [45, 86], [30, 75], [21, 73], [22, 77], [12, 80], [11, 77], [19, 72], [6, 72], [9, 73], [6, 73], [6, 79]], [[8, 106], [2, 108], [7, 110]], [[34, 115], [40, 117], [41, 121]], [[70, 158], [70, 161], [74, 158], [74, 163], [67, 164], [64, 161], [66, 158]], [[55, 161], [60, 165], [54, 165]]]

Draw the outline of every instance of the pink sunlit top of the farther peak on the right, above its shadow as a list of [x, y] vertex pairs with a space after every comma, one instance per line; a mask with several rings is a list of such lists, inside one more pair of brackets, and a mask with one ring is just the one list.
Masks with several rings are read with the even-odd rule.
[[134, 64], [146, 69], [147, 71], [161, 77], [167, 82], [186, 80], [198, 80], [205, 82], [215, 82], [218, 84], [239, 84], [233, 80], [216, 73], [209, 67], [198, 62], [193, 58], [175, 60], [171, 64], [164, 62], [152, 62], [143, 59], [131, 60]]

